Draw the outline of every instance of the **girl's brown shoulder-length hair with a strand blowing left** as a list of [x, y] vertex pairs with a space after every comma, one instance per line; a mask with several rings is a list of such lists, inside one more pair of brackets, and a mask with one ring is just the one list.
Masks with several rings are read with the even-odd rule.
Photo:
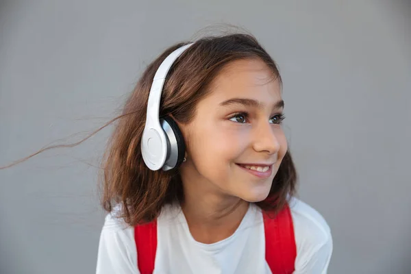
[[[79, 142], [46, 147], [9, 166], [32, 158], [42, 151], [79, 145], [104, 127], [115, 123], [101, 169], [103, 208], [112, 212], [114, 206], [119, 205], [116, 216], [123, 218], [129, 225], [136, 225], [155, 219], [165, 204], [181, 202], [184, 193], [178, 170], [148, 169], [142, 160], [140, 139], [145, 127], [147, 101], [154, 74], [171, 52], [186, 44], [188, 43], [182, 42], [169, 47], [149, 64], [127, 99], [120, 116]], [[161, 97], [160, 116], [172, 115], [179, 123], [189, 123], [195, 116], [197, 102], [210, 92], [208, 87], [219, 71], [229, 62], [250, 58], [262, 60], [281, 83], [277, 65], [250, 34], [209, 36], [197, 40], [173, 64], [167, 76]], [[295, 195], [296, 184], [297, 172], [290, 152], [287, 151], [273, 179], [269, 196], [256, 204], [262, 210], [275, 214]]]

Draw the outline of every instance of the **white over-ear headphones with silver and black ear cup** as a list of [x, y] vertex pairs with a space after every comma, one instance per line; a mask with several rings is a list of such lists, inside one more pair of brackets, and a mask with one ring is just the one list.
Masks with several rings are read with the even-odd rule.
[[175, 169], [184, 160], [186, 146], [177, 123], [166, 116], [160, 120], [160, 99], [166, 76], [179, 55], [193, 43], [173, 51], [155, 72], [147, 103], [147, 118], [141, 138], [142, 159], [149, 169], [168, 171]]

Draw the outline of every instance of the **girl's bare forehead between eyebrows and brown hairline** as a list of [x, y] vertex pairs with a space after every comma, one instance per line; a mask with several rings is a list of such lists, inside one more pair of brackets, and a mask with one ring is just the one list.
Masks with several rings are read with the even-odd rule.
[[281, 99], [281, 86], [262, 60], [236, 60], [212, 81], [208, 97], [209, 103], [240, 97], [271, 104]]

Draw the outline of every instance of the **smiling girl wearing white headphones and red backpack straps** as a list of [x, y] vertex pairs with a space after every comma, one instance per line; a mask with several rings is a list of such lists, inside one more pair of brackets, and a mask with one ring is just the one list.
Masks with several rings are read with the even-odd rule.
[[330, 229], [293, 197], [281, 86], [247, 34], [147, 67], [105, 157], [97, 274], [327, 273]]

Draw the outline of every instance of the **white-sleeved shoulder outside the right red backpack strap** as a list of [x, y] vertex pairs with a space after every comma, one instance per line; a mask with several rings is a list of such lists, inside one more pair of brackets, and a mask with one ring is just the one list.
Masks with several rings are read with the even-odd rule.
[[297, 245], [297, 273], [326, 273], [333, 249], [329, 225], [318, 211], [297, 198], [291, 199], [290, 210]]

